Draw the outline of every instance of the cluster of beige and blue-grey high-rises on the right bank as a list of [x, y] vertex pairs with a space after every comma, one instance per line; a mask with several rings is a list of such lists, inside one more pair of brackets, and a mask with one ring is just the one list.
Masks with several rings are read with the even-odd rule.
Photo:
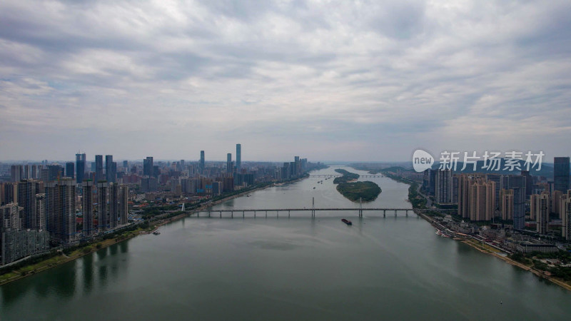
[[527, 170], [502, 175], [428, 169], [422, 181], [423, 193], [441, 208], [457, 208], [463, 219], [512, 223], [515, 230], [535, 226], [538, 234], [571, 240], [569, 157], [554, 159], [553, 180]]

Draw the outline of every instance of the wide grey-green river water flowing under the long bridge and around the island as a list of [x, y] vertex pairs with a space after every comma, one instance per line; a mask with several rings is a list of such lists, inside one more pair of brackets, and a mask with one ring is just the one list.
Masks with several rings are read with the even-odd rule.
[[[363, 207], [410, 208], [408, 185], [360, 180], [383, 190]], [[310, 208], [312, 198], [358, 208], [333, 179], [307, 178], [213, 209]], [[193, 215], [2, 285], [0, 320], [570, 319], [571, 292], [442, 238], [416, 215], [387, 214]]]

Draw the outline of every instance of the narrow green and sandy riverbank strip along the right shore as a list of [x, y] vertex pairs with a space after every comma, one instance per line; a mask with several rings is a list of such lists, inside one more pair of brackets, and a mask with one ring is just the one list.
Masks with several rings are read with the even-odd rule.
[[[385, 175], [385, 174], [383, 174], [383, 175]], [[395, 178], [390, 177], [390, 176], [388, 176], [388, 175], [385, 175], [385, 176], [387, 176], [388, 178], [390, 178], [390, 179], [392, 179], [392, 180], [398, 181], [398, 182], [400, 182], [400, 183], [405, 183], [405, 184], [408, 184], [408, 185], [411, 185], [411, 186], [415, 183], [415, 182], [410, 181], [410, 180], [398, 180], [398, 179], [395, 179]], [[409, 202], [410, 202], [410, 201], [411, 201], [411, 200], [409, 199]], [[411, 203], [412, 203], [412, 202], [411, 202]], [[435, 222], [434, 222], [433, 218], [430, 218], [430, 216], [425, 215], [425, 214], [423, 214], [423, 213], [418, 213], [418, 215], [420, 215], [421, 218], [424, 218], [426, 221], [428, 221], [428, 223], [430, 223], [430, 225], [433, 225], [433, 226], [434, 226], [434, 223], [435, 223]], [[438, 228], [436, 228], [436, 227], [435, 227], [435, 229], [438, 230]], [[504, 261], [505, 263], [508, 263], [508, 264], [513, 265], [513, 266], [516, 266], [516, 267], [520, 267], [522, 270], [530, 271], [530, 272], [532, 272], [534, 275], [537, 275], [537, 277], [541, 277], [541, 278], [543, 278], [543, 279], [545, 279], [545, 280], [550, 280], [550, 281], [553, 282], [555, 285], [559, 285], [560, 287], [563, 287], [564, 289], [571, 291], [571, 285], [570, 285], [569, 283], [564, 282], [564, 281], [562, 281], [562, 280], [558, 280], [557, 278], [552, 277], [552, 276], [550, 276], [550, 275], [546, 275], [545, 272], [543, 272], [543, 271], [536, 270], [536, 269], [533, 268], [533, 267], [530, 267], [530, 266], [528, 266], [528, 265], [525, 265], [525, 264], [519, 263], [519, 262], [517, 262], [517, 261], [515, 261], [515, 260], [512, 260], [512, 259], [510, 259], [507, 255], [500, 255], [500, 250], [497, 250], [497, 249], [492, 248], [492, 247], [490, 247], [490, 246], [482, 245], [479, 241], [474, 240], [474, 239], [472, 239], [472, 238], [461, 238], [461, 239], [460, 239], [460, 242], [462, 242], [462, 243], [464, 243], [464, 244], [466, 244], [466, 245], [469, 245], [469, 246], [472, 247], [472, 248], [475, 248], [476, 250], [480, 251], [481, 253], [484, 253], [484, 254], [487, 254], [487, 255], [492, 255], [492, 256], [494, 256], [495, 258], [499, 258], [500, 260]]]

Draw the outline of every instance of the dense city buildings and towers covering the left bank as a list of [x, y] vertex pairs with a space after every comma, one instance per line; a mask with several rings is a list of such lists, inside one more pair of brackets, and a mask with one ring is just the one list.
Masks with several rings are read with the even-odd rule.
[[[319, 163], [317, 165], [320, 165]], [[9, 166], [9, 168], [7, 168]], [[0, 165], [0, 248], [5, 265], [51, 246], [70, 245], [128, 224], [129, 205], [136, 200], [190, 202], [231, 193], [260, 182], [298, 178], [311, 166], [306, 158], [293, 162], [226, 163], [123, 161], [96, 155], [88, 164], [85, 153], [76, 161]], [[138, 205], [136, 205], [138, 206]]]

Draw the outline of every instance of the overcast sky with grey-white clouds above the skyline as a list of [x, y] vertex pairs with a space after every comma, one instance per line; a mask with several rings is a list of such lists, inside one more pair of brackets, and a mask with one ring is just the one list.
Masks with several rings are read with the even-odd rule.
[[568, 0], [0, 1], [0, 160], [570, 156], [570, 89]]

